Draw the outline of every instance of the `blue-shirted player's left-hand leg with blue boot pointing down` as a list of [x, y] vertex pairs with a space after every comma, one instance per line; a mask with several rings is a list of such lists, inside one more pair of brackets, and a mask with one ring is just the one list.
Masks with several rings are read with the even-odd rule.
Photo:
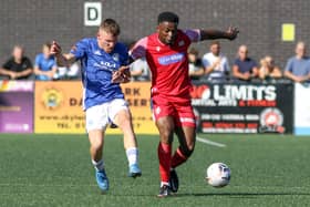
[[96, 182], [100, 189], [104, 193], [108, 189], [108, 179], [104, 170], [104, 162], [102, 159], [102, 151], [104, 145], [104, 136], [102, 130], [92, 130], [89, 132], [90, 153], [92, 163], [96, 169]]

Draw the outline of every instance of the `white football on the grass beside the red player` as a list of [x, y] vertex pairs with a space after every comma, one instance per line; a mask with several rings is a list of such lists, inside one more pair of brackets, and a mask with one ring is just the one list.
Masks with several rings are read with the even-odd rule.
[[213, 163], [207, 168], [206, 180], [213, 187], [224, 187], [229, 184], [230, 169], [224, 163]]

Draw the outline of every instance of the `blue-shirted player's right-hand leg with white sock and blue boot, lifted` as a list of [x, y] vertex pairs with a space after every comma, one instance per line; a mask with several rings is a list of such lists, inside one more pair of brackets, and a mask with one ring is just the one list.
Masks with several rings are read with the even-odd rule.
[[138, 167], [138, 149], [137, 142], [133, 130], [132, 115], [128, 110], [121, 110], [114, 117], [113, 121], [124, 134], [124, 148], [126, 151], [128, 165], [130, 165], [130, 177], [141, 176], [141, 169]]

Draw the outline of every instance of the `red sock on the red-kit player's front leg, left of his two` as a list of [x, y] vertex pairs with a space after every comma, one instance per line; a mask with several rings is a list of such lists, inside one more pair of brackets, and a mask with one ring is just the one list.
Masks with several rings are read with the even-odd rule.
[[172, 145], [158, 144], [159, 174], [162, 182], [168, 183], [170, 176]]

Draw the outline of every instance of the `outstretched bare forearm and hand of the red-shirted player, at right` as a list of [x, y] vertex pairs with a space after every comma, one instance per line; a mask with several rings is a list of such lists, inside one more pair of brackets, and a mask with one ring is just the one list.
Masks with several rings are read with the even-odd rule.
[[237, 28], [229, 27], [227, 31], [200, 30], [200, 40], [228, 39], [235, 40], [239, 33]]

